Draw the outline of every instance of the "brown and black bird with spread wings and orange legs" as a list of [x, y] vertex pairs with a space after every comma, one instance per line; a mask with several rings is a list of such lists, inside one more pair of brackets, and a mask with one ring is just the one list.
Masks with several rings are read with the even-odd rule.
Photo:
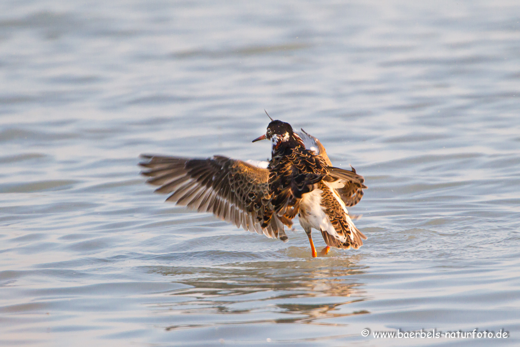
[[363, 176], [352, 166], [351, 170], [332, 166], [316, 137], [269, 118], [266, 133], [252, 141], [270, 140], [268, 162], [143, 154], [141, 174], [149, 177], [147, 183], [159, 186], [155, 192], [170, 194], [166, 201], [211, 212], [239, 228], [284, 242], [288, 241], [284, 227], [292, 228], [297, 215], [313, 258], [318, 253], [312, 229], [319, 230], [327, 244], [320, 255], [331, 247], [361, 247], [367, 237], [356, 228], [347, 207], [361, 200], [367, 188]]

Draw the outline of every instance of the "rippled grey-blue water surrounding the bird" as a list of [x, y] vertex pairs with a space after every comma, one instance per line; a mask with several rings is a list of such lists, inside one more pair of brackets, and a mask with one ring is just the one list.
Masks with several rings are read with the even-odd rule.
[[[515, 1], [2, 2], [0, 344], [518, 345], [519, 18]], [[143, 152], [267, 159], [264, 108], [365, 176], [359, 250], [311, 259], [299, 226], [270, 240], [139, 176]]]

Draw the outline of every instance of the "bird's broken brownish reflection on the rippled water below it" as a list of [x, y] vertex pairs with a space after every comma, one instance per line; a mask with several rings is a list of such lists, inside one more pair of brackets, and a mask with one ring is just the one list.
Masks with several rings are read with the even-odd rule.
[[366, 271], [357, 258], [155, 267], [154, 272], [190, 288], [168, 292], [169, 300], [152, 309], [182, 316], [179, 324], [166, 330], [250, 323], [333, 324], [324, 319], [369, 313], [347, 307], [368, 299], [359, 276], [352, 276]]

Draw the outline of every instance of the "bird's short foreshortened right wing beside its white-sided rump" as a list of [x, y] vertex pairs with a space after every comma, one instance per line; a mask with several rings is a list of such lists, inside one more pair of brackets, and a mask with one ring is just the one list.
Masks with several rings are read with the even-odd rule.
[[[329, 174], [324, 178], [327, 182], [335, 182], [336, 191], [340, 195], [347, 207], [354, 206], [363, 197], [363, 189], [367, 188], [363, 184], [365, 178], [356, 173], [356, 169], [352, 171], [329, 167]], [[343, 186], [341, 186], [343, 184]]]

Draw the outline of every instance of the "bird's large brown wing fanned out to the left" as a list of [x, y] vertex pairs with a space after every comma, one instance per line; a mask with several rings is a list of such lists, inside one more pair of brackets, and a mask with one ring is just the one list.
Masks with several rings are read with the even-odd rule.
[[146, 161], [143, 175], [155, 191], [171, 194], [166, 201], [186, 205], [199, 212], [211, 212], [237, 227], [287, 240], [283, 224], [275, 217], [264, 228], [258, 215], [269, 210], [269, 170], [241, 160], [214, 156], [190, 159], [141, 155]]

